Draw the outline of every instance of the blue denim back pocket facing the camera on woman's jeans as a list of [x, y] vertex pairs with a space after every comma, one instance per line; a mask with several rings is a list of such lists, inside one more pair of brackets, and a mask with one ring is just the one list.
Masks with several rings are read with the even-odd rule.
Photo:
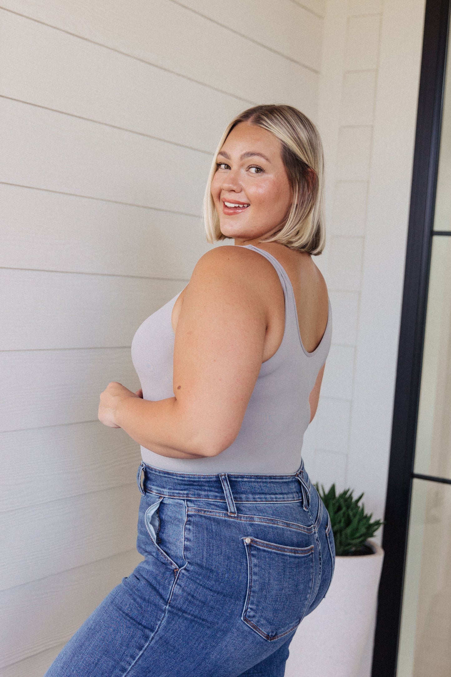
[[272, 641], [289, 634], [308, 609], [314, 579], [314, 546], [291, 548], [244, 538], [247, 595], [241, 618]]

